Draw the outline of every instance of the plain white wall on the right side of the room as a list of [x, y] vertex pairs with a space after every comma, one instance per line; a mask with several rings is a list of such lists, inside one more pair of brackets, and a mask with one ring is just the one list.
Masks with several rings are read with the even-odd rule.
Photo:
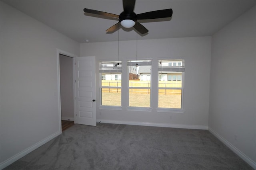
[[255, 7], [212, 37], [209, 129], [256, 168]]

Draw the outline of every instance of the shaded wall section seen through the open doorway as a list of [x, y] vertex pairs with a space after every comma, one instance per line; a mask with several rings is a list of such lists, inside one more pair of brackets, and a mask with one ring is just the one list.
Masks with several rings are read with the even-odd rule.
[[74, 121], [73, 58], [60, 55], [61, 119]]

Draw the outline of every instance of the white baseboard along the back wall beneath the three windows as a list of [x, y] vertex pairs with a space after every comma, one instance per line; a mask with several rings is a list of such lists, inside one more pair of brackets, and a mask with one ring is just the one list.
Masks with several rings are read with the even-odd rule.
[[149, 123], [149, 122], [137, 122], [137, 121], [115, 121], [115, 120], [104, 120], [104, 119], [97, 119], [97, 122], [122, 124], [122, 125], [173, 127], [173, 128], [184, 128], [184, 129], [202, 129], [202, 130], [207, 130], [208, 129], [208, 126], [202, 126], [202, 125], [180, 125], [180, 124]]

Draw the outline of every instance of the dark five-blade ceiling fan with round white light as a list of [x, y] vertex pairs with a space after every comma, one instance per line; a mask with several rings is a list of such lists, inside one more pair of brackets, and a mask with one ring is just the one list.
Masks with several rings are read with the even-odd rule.
[[135, 0], [123, 0], [123, 8], [124, 11], [121, 12], [120, 15], [111, 14], [108, 12], [102, 12], [97, 10], [90, 10], [88, 8], [84, 8], [85, 13], [90, 14], [98, 14], [102, 16], [107, 16], [110, 18], [119, 18], [119, 22], [108, 28], [107, 32], [114, 32], [119, 28], [119, 23], [126, 28], [134, 27], [139, 33], [145, 34], [148, 32], [143, 25], [141, 25], [137, 20], [149, 20], [149, 19], [157, 19], [157, 18], [168, 18], [172, 16], [172, 9], [166, 10], [157, 10], [151, 12], [145, 12], [142, 14], [135, 14], [134, 11]]

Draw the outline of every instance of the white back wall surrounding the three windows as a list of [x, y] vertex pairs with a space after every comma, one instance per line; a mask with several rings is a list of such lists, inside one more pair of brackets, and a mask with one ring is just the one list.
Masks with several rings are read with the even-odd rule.
[[[130, 32], [136, 34], [134, 31]], [[80, 44], [80, 56], [96, 56], [99, 60], [117, 60], [117, 42]], [[152, 92], [152, 111], [128, 111], [127, 80], [122, 76], [122, 111], [99, 109], [97, 102], [97, 120], [102, 122], [156, 125], [167, 127], [184, 127], [207, 129], [209, 90], [210, 90], [210, 56], [211, 37], [191, 37], [174, 39], [138, 40], [138, 59], [152, 59], [152, 70], [157, 70], [158, 59], [185, 59], [184, 113], [157, 112], [157, 90]], [[136, 59], [136, 41], [119, 42], [119, 58], [125, 66], [127, 60]], [[96, 89], [99, 89], [98, 64], [96, 64]], [[122, 74], [127, 74], [123, 69]], [[153, 73], [158, 80], [157, 72]], [[157, 81], [152, 81], [157, 88]], [[100, 101], [99, 90], [96, 90]], [[171, 117], [170, 117], [171, 116]]]

